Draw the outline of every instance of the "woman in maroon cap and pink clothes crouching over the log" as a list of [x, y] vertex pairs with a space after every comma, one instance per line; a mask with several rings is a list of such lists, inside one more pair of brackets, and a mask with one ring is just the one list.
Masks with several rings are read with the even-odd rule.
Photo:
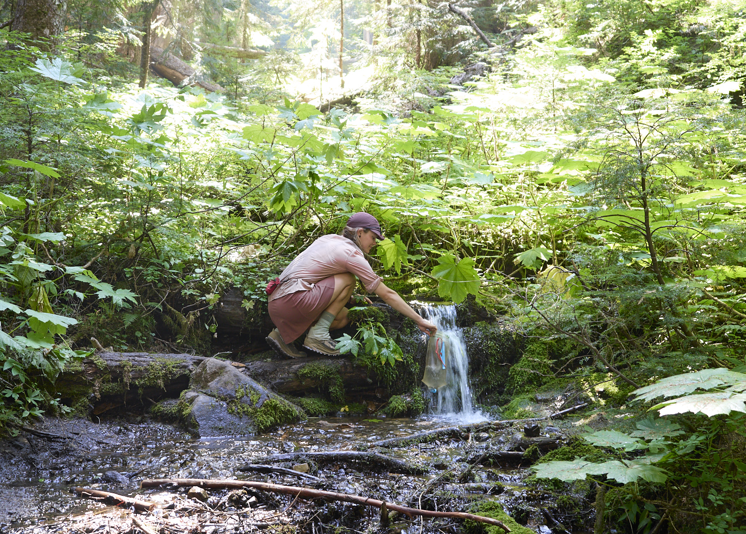
[[[355, 277], [368, 293], [414, 320], [422, 332], [433, 335], [436, 326], [424, 320], [396, 291], [387, 288], [375, 274], [363, 252], [369, 254], [383, 239], [380, 224], [371, 214], [354, 214], [342, 235], [319, 237], [298, 255], [280, 275], [280, 283], [269, 296], [269, 317], [275, 328], [267, 343], [283, 356], [306, 356], [292, 342], [309, 328], [303, 347], [327, 356], [336, 356], [336, 341], [330, 330], [349, 323], [345, 306], [352, 297]], [[371, 302], [366, 297], [367, 302]]]

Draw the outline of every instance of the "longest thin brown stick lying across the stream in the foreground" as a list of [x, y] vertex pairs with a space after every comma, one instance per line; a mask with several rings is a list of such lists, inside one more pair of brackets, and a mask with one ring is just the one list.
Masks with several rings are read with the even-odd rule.
[[301, 488], [292, 485], [270, 484], [269, 482], [252, 482], [249, 480], [207, 480], [207, 479], [145, 479], [141, 482], [142, 488], [157, 488], [161, 485], [171, 486], [198, 486], [200, 488], [212, 489], [233, 489], [233, 488], [254, 488], [262, 491], [271, 491], [273, 493], [283, 493], [295, 495], [295, 497], [304, 497], [310, 499], [337, 500], [345, 503], [355, 503], [363, 506], [374, 506], [380, 509], [386, 505], [386, 509], [400, 512], [407, 517], [421, 515], [426, 518], [457, 518], [471, 519], [478, 523], [486, 523], [500, 527], [505, 532], [510, 532], [510, 528], [505, 526], [501, 521], [492, 518], [485, 518], [482, 515], [468, 514], [466, 512], [432, 512], [430, 510], [421, 510], [410, 508], [408, 506], [399, 506], [383, 500], [371, 499], [362, 495], [348, 495], [336, 493], [336, 491], [325, 491], [313, 488]]

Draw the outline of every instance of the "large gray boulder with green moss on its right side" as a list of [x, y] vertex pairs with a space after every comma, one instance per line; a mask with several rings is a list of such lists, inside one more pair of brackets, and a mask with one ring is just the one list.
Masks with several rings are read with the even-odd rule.
[[179, 414], [195, 435], [253, 435], [304, 419], [303, 411], [228, 361], [207, 358], [192, 373]]

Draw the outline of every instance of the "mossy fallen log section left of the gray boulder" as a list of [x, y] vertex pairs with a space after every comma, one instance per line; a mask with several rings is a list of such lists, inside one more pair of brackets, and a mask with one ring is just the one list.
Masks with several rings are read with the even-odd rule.
[[189, 354], [98, 352], [67, 367], [54, 388], [80, 415], [178, 397], [205, 358]]

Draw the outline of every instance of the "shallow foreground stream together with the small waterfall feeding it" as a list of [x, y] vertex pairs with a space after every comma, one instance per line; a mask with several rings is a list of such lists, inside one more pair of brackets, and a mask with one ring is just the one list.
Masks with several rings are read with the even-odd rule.
[[[456, 327], [454, 307], [428, 307], [425, 312], [448, 340], [443, 362], [449, 370], [448, 383], [430, 390], [429, 414], [416, 418], [311, 417], [263, 435], [221, 438], [193, 438], [148, 415], [98, 422], [44, 419], [24, 427], [16, 438], [0, 441], [0, 534], [125, 533], [133, 525], [135, 532], [143, 530], [137, 518], [131, 517], [134, 512], [80, 497], [72, 491], [78, 486], [157, 503], [147, 521], [160, 534], [248, 533], [270, 527], [277, 530], [278, 526], [294, 529], [280, 529], [283, 533], [339, 534], [380, 526], [377, 509], [350, 503], [298, 500], [255, 490], [210, 490], [197, 498], [187, 495], [189, 488], [140, 488], [142, 479], [166, 478], [306, 486], [435, 511], [468, 512], [475, 503], [495, 500], [530, 528], [526, 532], [563, 532], [546, 525], [554, 521], [547, 518], [549, 497], [522, 482], [530, 474], [525, 468], [531, 462], [522, 459], [521, 451], [536, 440], [557, 447], [565, 431], [542, 423], [540, 429], [533, 429], [539, 434], [530, 441], [520, 422], [485, 423], [486, 417], [472, 404], [466, 345]], [[456, 425], [472, 426], [454, 429]], [[436, 429], [452, 430], [424, 440], [380, 446], [383, 440]], [[404, 462], [413, 468], [410, 472], [419, 474], [395, 473], [397, 469], [391, 466], [358, 460], [302, 456], [333, 451], [374, 451]], [[298, 456], [289, 461], [266, 458], [280, 453]], [[302, 473], [241, 471], [248, 464]], [[465, 531], [461, 520], [392, 515], [389, 532]]]

